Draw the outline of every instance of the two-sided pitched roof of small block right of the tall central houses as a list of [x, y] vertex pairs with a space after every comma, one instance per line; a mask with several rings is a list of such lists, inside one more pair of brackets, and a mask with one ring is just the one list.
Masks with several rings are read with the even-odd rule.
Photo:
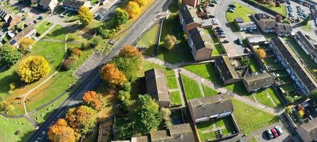
[[221, 70], [224, 80], [238, 79], [236, 70], [231, 65], [231, 61], [228, 56], [221, 55], [215, 58], [215, 62]]

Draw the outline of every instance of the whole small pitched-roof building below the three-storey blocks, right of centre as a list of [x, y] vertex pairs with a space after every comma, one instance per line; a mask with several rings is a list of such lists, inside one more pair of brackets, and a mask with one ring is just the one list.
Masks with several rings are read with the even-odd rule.
[[223, 84], [231, 84], [240, 81], [236, 70], [231, 65], [231, 61], [226, 55], [215, 58], [216, 68], [223, 80]]

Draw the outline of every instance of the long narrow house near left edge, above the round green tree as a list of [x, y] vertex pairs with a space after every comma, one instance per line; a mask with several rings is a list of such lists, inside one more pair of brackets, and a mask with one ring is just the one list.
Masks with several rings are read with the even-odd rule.
[[35, 33], [36, 33], [36, 30], [34, 28], [34, 24], [31, 23], [29, 26], [24, 28], [20, 33], [18, 33], [13, 38], [11, 38], [8, 41], [8, 43], [10, 45], [18, 45], [19, 40], [21, 40], [21, 38], [24, 38], [24, 37], [31, 38], [33, 35], [35, 35]]

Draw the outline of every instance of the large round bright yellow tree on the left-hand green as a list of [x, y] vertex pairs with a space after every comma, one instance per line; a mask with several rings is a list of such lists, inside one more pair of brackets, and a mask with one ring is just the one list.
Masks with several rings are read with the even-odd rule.
[[49, 74], [50, 70], [49, 62], [44, 57], [29, 56], [21, 61], [17, 72], [19, 77], [21, 77], [21, 81], [30, 83]]

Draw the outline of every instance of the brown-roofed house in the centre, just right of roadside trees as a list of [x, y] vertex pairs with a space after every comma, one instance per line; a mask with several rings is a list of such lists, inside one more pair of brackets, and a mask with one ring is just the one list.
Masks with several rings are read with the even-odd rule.
[[171, 98], [168, 94], [166, 76], [162, 69], [154, 68], [144, 72], [146, 92], [156, 100], [159, 107], [169, 107]]

